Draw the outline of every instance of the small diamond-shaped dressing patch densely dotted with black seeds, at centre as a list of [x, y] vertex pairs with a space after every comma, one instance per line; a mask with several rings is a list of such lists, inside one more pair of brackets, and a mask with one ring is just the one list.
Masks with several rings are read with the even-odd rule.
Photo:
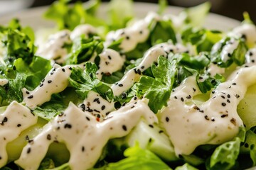
[[114, 102], [105, 100], [95, 91], [90, 91], [79, 107], [82, 111], [90, 112], [98, 121], [104, 120], [111, 111], [115, 110]]

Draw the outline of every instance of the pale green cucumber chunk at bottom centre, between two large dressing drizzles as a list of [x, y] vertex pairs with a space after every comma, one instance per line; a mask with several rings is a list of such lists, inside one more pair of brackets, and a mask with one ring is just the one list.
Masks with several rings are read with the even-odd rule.
[[139, 147], [149, 149], [166, 161], [175, 161], [178, 158], [171, 145], [169, 137], [157, 125], [149, 125], [141, 120], [132, 132], [125, 137], [129, 147], [139, 142]]

